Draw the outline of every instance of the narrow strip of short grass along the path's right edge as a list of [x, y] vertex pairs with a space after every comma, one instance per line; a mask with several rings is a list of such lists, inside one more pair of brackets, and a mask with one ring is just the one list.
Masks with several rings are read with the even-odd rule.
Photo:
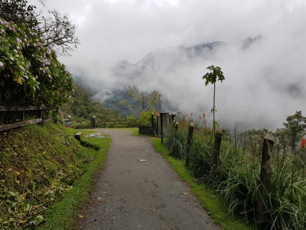
[[243, 220], [238, 219], [237, 217], [228, 213], [224, 201], [211, 193], [207, 186], [198, 183], [185, 168], [183, 160], [178, 160], [172, 156], [169, 156], [166, 147], [160, 143], [159, 138], [152, 137], [151, 141], [153, 142], [156, 152], [159, 152], [172, 165], [178, 176], [189, 184], [192, 193], [197, 196], [202, 207], [207, 212], [210, 212], [210, 215], [214, 221], [220, 224], [223, 229], [255, 229], [254, 226], [251, 226]]

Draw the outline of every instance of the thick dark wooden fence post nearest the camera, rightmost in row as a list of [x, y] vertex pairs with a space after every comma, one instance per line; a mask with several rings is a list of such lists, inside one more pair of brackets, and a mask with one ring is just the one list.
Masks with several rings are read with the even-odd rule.
[[257, 197], [257, 216], [256, 221], [260, 225], [266, 224], [270, 219], [269, 215], [269, 192], [270, 179], [272, 176], [271, 156], [273, 153], [274, 138], [271, 133], [267, 133], [263, 138], [261, 163], [260, 163], [260, 181], [259, 192]]

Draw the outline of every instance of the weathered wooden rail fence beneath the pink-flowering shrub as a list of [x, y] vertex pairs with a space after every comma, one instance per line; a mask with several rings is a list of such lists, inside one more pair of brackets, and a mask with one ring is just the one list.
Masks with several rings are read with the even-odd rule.
[[[29, 124], [49, 122], [47, 117], [50, 108], [39, 106], [0, 106], [0, 131], [13, 129]], [[30, 117], [32, 119], [26, 119]]]

